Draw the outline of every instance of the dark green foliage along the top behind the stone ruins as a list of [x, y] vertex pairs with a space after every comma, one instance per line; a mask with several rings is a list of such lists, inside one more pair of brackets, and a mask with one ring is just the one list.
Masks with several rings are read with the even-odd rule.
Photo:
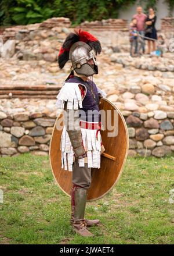
[[[158, 0], [142, 1], [156, 10]], [[73, 24], [88, 20], [117, 18], [119, 10], [128, 9], [136, 0], [1, 0], [0, 26], [40, 23], [50, 17], [68, 17]], [[174, 0], [168, 3], [172, 15]], [[141, 1], [140, 1], [141, 4]]]

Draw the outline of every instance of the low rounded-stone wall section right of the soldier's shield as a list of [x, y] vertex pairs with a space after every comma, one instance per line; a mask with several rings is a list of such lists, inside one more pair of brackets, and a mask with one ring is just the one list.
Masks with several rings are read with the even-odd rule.
[[[126, 115], [126, 113], [124, 113]], [[129, 113], [127, 113], [129, 115]], [[164, 157], [174, 151], [174, 112], [133, 112], [126, 118], [129, 155]]]

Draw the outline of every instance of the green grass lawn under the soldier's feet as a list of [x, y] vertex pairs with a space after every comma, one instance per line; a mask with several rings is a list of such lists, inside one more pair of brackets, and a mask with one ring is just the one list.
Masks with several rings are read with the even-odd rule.
[[95, 237], [71, 230], [70, 198], [56, 185], [48, 157], [0, 158], [0, 244], [173, 244], [174, 158], [128, 158], [114, 190], [88, 202]]

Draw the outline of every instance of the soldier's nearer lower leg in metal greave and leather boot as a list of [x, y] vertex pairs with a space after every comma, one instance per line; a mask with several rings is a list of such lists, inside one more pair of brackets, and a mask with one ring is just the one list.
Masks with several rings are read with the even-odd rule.
[[88, 237], [93, 236], [89, 232], [84, 219], [85, 207], [86, 207], [86, 189], [73, 186], [71, 193], [71, 224], [75, 232], [81, 236]]

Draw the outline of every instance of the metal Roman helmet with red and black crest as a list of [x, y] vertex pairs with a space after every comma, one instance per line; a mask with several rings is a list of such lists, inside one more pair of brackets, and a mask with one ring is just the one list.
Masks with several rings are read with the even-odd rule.
[[[97, 38], [87, 31], [74, 30], [74, 33], [67, 35], [62, 47], [60, 48], [58, 63], [63, 69], [67, 61], [71, 61], [71, 72], [75, 70], [78, 76], [93, 76], [98, 73], [96, 55], [102, 51], [101, 44]], [[94, 65], [88, 63], [93, 59]]]

